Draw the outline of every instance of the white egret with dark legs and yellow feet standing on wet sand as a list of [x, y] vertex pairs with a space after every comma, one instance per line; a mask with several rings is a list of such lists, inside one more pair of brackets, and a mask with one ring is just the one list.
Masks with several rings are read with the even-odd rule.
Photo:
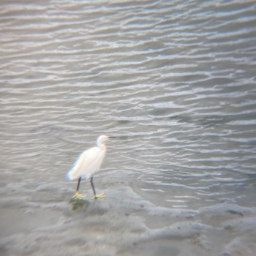
[[67, 179], [69, 181], [72, 181], [76, 178], [78, 178], [78, 186], [75, 191], [75, 195], [72, 196], [72, 198], [78, 198], [82, 199], [83, 197], [86, 197], [87, 195], [80, 194], [79, 187], [80, 187], [80, 181], [82, 178], [90, 179], [91, 188], [94, 192], [93, 199], [102, 198], [105, 197], [105, 194], [96, 194], [95, 188], [94, 188], [94, 182], [93, 182], [93, 176], [94, 173], [96, 173], [99, 170], [99, 167], [102, 165], [103, 159], [105, 157], [106, 153], [106, 146], [105, 141], [116, 138], [113, 136], [107, 136], [107, 135], [100, 135], [96, 140], [96, 146], [93, 148], [89, 148], [86, 151], [83, 151], [82, 154], [78, 157], [75, 164], [73, 165], [72, 169], [69, 170], [67, 173]]

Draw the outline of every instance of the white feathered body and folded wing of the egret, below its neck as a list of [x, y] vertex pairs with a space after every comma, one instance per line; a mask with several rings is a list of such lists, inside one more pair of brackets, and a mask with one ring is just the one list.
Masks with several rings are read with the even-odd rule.
[[99, 170], [104, 153], [98, 148], [89, 148], [78, 157], [72, 169], [67, 174], [69, 180], [73, 180], [80, 176], [90, 178], [95, 171]]

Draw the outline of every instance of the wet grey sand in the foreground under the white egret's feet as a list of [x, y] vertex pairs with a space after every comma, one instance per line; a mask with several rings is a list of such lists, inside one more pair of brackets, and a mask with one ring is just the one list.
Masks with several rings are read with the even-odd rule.
[[132, 190], [135, 176], [95, 181], [104, 199], [70, 200], [69, 183], [1, 187], [1, 255], [255, 255], [256, 208], [165, 208]]

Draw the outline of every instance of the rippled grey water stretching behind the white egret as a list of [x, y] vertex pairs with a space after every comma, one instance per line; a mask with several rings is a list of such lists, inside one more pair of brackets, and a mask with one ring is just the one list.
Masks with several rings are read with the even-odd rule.
[[65, 174], [106, 134], [118, 138], [99, 190], [127, 182], [156, 207], [255, 211], [255, 1], [0, 5], [2, 198], [18, 192], [40, 205], [31, 194], [53, 184], [47, 196], [68, 201], [75, 184]]

